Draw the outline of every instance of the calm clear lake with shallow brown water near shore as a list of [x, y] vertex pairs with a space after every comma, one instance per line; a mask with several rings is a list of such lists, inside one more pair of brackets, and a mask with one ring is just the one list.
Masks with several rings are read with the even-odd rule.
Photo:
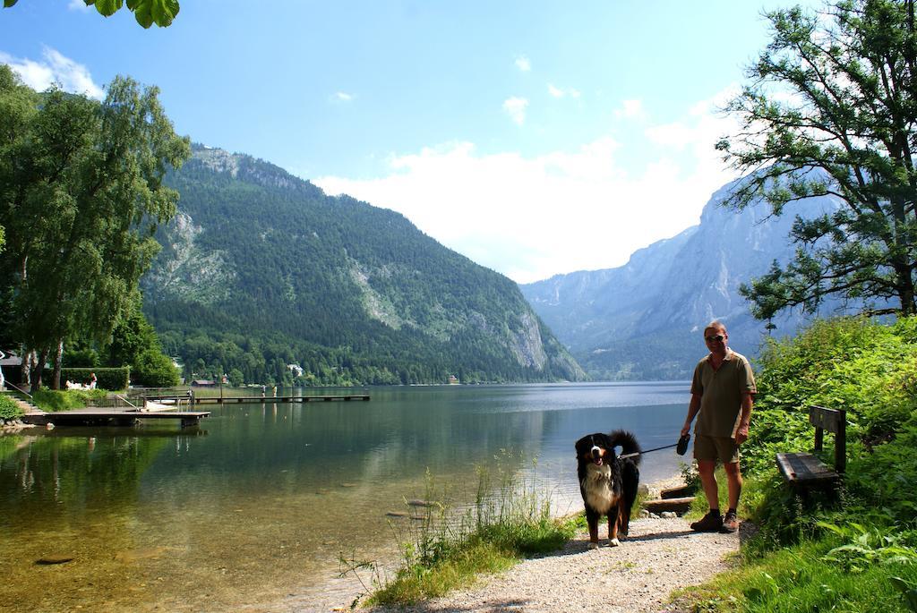
[[[580, 510], [573, 443], [618, 428], [645, 449], [675, 443], [688, 390], [683, 381], [347, 389], [371, 400], [204, 405], [211, 416], [186, 431], [152, 422], [6, 436], [0, 609], [348, 604], [359, 584], [336, 579], [338, 559], [391, 559], [397, 524], [411, 520], [387, 513], [408, 511], [406, 500], [460, 507], [488, 466], [536, 481], [558, 513]], [[641, 480], [678, 474], [680, 460], [672, 449], [646, 454]], [[36, 564], [55, 558], [72, 561]]]

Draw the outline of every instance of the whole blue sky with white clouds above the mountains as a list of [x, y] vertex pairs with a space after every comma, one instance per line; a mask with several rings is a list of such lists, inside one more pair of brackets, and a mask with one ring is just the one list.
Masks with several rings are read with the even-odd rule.
[[[180, 134], [399, 211], [511, 279], [621, 266], [735, 172], [717, 104], [788, 1], [182, 0], [171, 27], [82, 0], [0, 9], [37, 89], [160, 87]], [[816, 5], [814, 1], [805, 4]]]

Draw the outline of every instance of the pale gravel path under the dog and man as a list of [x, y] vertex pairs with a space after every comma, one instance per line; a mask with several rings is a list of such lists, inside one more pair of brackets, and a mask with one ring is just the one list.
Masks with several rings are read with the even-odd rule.
[[[600, 531], [600, 536], [603, 531]], [[409, 608], [375, 608], [374, 613], [470, 613], [496, 611], [665, 611], [675, 589], [703, 583], [724, 571], [724, 556], [739, 547], [739, 534], [692, 532], [688, 521], [631, 522], [620, 547], [588, 550], [580, 534], [564, 549], [525, 560], [503, 575]]]

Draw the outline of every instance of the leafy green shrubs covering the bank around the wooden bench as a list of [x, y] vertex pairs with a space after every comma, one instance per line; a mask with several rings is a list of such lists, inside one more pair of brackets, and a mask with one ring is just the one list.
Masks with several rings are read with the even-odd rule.
[[[917, 520], [917, 317], [896, 323], [822, 321], [790, 341], [768, 345], [760, 360], [747, 474], [762, 492], [746, 499], [761, 527], [750, 551], [817, 535], [819, 519], [905, 525]], [[812, 449], [812, 404], [847, 411], [847, 470], [840, 505], [796, 498], [778, 476], [774, 455]], [[833, 462], [834, 436], [824, 460]], [[805, 502], [805, 504], [803, 504]]]

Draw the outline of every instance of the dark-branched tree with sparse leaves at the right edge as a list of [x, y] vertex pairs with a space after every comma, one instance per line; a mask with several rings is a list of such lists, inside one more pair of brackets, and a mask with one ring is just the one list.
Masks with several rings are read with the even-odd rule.
[[[727, 205], [763, 196], [772, 213], [831, 196], [836, 213], [797, 217], [796, 256], [744, 285], [759, 319], [815, 312], [836, 295], [867, 312], [917, 312], [917, 35], [913, 0], [849, 0], [823, 14], [767, 14], [773, 38], [726, 111], [740, 130], [717, 144], [738, 170]], [[889, 304], [893, 306], [889, 308]]]

